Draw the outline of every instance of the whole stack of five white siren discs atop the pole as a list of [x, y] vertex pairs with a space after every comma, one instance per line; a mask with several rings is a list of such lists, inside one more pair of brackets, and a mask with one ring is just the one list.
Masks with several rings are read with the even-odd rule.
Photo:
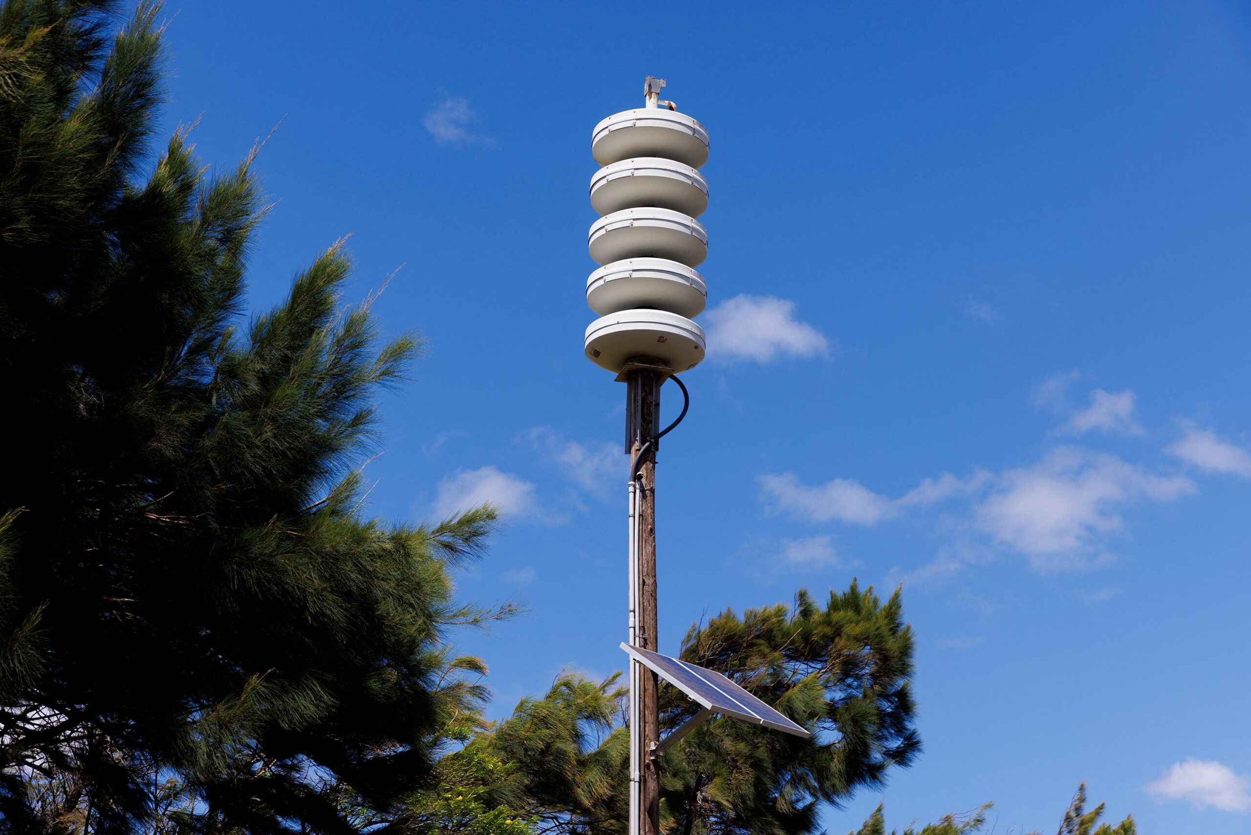
[[[587, 304], [600, 318], [587, 328], [587, 357], [619, 373], [632, 359], [674, 372], [704, 357], [708, 288], [696, 267], [708, 255], [708, 233], [696, 220], [708, 208], [708, 131], [672, 101], [664, 79], [648, 78], [647, 106], [615, 113], [590, 136], [603, 165], [590, 178], [590, 205], [600, 215], [587, 248], [602, 267], [587, 279]], [[663, 109], [662, 109], [663, 108]]]

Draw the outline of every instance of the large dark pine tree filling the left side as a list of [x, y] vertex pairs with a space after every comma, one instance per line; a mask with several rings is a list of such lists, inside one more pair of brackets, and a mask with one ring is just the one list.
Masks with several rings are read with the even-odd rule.
[[160, 8], [115, 11], [0, 6], [0, 820], [353, 831], [328, 787], [395, 807], [484, 697], [448, 565], [494, 515], [363, 515], [417, 342], [343, 307], [339, 244], [240, 318], [255, 153], [150, 154]]

